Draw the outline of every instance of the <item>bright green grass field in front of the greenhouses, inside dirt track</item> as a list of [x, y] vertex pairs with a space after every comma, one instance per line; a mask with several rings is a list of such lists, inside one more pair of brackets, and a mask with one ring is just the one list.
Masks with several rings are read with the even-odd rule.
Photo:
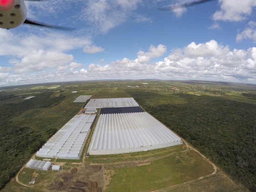
[[106, 191], [148, 192], [208, 175], [213, 172], [213, 167], [197, 152], [189, 151], [155, 160], [150, 165], [116, 168], [114, 171]]

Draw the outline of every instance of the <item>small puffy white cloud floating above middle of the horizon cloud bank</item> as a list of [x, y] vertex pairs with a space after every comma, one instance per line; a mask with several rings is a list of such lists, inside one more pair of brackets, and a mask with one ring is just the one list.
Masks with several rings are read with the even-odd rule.
[[151, 45], [148, 48], [149, 52], [139, 51], [137, 53], [138, 55], [138, 61], [140, 63], [146, 63], [151, 60], [151, 58], [157, 58], [162, 56], [164, 53], [166, 53], [166, 46], [159, 44], [157, 47]]

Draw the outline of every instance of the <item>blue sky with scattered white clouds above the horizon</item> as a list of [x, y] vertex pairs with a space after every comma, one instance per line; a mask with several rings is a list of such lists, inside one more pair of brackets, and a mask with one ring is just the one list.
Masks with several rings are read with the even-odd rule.
[[0, 28], [0, 86], [98, 79], [256, 84], [256, 0], [25, 1], [27, 19]]

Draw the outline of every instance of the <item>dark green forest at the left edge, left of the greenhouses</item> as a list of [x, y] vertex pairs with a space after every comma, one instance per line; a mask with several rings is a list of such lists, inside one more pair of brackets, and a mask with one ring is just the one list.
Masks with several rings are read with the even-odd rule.
[[[36, 97], [19, 103], [0, 105], [0, 189], [13, 177], [31, 155], [42, 146], [57, 129], [16, 125], [12, 118], [31, 108], [47, 108], [57, 105], [65, 97], [50, 97], [52, 92], [36, 94]], [[1, 100], [14, 98], [6, 94]], [[42, 129], [40, 129], [42, 128]]]

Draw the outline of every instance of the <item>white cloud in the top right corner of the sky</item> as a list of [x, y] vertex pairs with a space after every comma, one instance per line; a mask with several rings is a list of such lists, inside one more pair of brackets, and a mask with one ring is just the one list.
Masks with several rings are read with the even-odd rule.
[[255, 0], [219, 0], [221, 10], [213, 14], [213, 20], [242, 21], [256, 7]]

